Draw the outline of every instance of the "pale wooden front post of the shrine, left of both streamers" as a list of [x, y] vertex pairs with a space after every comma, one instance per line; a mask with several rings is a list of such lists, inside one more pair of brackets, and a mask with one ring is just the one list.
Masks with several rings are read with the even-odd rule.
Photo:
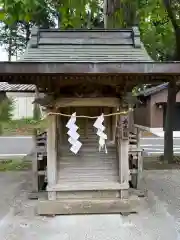
[[[55, 115], [49, 115], [48, 117], [48, 129], [47, 129], [47, 181], [48, 188], [53, 187], [57, 182], [57, 142], [56, 142], [56, 130], [57, 130], [57, 117]], [[56, 192], [48, 191], [48, 199], [55, 200]]]

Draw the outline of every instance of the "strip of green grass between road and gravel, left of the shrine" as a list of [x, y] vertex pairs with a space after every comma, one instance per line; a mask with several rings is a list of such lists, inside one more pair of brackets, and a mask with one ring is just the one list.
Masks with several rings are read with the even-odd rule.
[[24, 159], [0, 160], [0, 172], [26, 171], [31, 169], [31, 162]]

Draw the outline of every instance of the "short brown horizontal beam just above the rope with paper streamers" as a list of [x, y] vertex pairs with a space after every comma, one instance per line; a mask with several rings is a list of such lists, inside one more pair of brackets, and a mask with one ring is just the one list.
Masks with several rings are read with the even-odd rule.
[[59, 107], [116, 107], [120, 105], [119, 98], [59, 98], [54, 104]]

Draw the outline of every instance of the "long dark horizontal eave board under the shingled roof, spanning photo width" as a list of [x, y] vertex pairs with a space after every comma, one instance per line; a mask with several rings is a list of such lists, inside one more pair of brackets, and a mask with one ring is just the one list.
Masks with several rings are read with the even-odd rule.
[[4, 74], [170, 74], [180, 75], [180, 62], [1, 62], [0, 75]]

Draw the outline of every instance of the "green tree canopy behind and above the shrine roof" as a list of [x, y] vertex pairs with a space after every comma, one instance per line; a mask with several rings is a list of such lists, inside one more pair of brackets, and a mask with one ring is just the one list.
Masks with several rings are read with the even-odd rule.
[[103, 9], [102, 0], [0, 0], [0, 43], [5, 44], [12, 55], [17, 48], [21, 53], [33, 25], [45, 28], [58, 25], [63, 29], [103, 27], [104, 11], [107, 27], [126, 28], [138, 24], [142, 42], [154, 60], [179, 58], [178, 0], [105, 1]]

